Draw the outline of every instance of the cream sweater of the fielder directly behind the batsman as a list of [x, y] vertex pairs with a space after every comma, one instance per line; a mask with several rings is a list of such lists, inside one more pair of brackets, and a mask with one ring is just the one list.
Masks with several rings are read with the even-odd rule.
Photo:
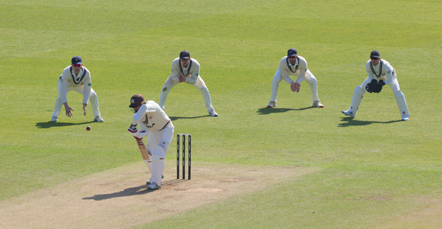
[[197, 62], [195, 59], [190, 58], [189, 65], [187, 65], [187, 68], [185, 68], [184, 66], [182, 66], [180, 58], [176, 58], [175, 60], [173, 60], [172, 72], [170, 73], [169, 77], [172, 77], [173, 81], [178, 82], [180, 81], [178, 79], [178, 76], [180, 75], [187, 77], [185, 83], [194, 85], [199, 77], [199, 62]]

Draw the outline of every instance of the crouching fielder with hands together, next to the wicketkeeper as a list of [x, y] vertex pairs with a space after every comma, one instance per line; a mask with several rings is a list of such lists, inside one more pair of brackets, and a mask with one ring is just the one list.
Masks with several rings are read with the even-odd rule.
[[[296, 81], [293, 81], [290, 76], [297, 76]], [[318, 83], [316, 78], [313, 76], [312, 72], [307, 69], [307, 61], [304, 57], [297, 55], [296, 48], [290, 48], [287, 51], [287, 56], [281, 59], [279, 62], [279, 68], [276, 70], [276, 74], [272, 81], [272, 96], [270, 97], [270, 102], [267, 107], [276, 106], [276, 98], [278, 97], [279, 83], [284, 80], [290, 84], [290, 89], [293, 92], [300, 92], [301, 82], [307, 81], [310, 85], [310, 90], [312, 91], [313, 105], [314, 107], [324, 107], [321, 102], [319, 102], [318, 97]]]

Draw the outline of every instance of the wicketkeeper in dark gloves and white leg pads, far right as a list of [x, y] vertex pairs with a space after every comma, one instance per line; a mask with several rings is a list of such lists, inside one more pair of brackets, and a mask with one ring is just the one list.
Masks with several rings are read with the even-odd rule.
[[405, 96], [399, 88], [398, 80], [396, 79], [396, 71], [386, 60], [381, 60], [380, 53], [377, 50], [373, 50], [370, 53], [370, 60], [366, 64], [366, 71], [368, 78], [363, 81], [361, 86], [356, 86], [353, 92], [353, 98], [351, 99], [350, 109], [342, 111], [344, 115], [355, 117], [356, 112], [359, 109], [359, 104], [366, 92], [379, 93], [382, 90], [383, 85], [389, 85], [394, 92], [394, 98], [398, 104], [399, 111], [401, 111], [401, 117], [403, 121], [407, 121], [410, 117], [408, 112], [407, 102]]

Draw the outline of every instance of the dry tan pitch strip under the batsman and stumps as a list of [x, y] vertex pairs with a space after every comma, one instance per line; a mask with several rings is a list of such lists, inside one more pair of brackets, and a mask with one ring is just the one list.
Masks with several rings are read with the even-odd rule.
[[198, 162], [192, 167], [192, 180], [178, 180], [176, 164], [167, 162], [159, 190], [147, 190], [149, 174], [139, 162], [13, 197], [0, 202], [0, 228], [131, 228], [318, 170]]

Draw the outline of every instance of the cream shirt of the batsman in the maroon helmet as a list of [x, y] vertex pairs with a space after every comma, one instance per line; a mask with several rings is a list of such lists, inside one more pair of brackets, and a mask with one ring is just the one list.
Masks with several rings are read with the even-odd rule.
[[133, 116], [132, 125], [147, 132], [159, 132], [165, 127], [173, 126], [169, 116], [154, 101], [149, 100], [140, 106], [140, 109]]

